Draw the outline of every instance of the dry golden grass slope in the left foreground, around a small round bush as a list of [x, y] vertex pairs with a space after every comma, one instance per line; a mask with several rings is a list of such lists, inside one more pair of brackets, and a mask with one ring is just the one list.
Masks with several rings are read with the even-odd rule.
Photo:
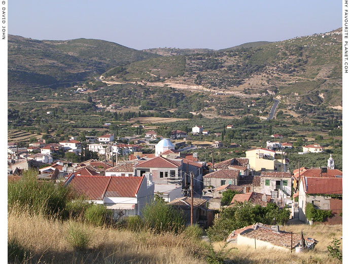
[[76, 251], [65, 239], [68, 226], [69, 221], [14, 210], [8, 213], [9, 238], [16, 237], [31, 253], [24, 263], [205, 263], [194, 256], [201, 247], [182, 235], [136, 234], [93, 226], [87, 226], [93, 234], [91, 246]]

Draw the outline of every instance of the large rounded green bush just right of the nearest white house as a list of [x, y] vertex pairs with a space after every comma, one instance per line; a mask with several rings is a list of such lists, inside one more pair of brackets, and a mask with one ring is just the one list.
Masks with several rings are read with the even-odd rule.
[[179, 233], [185, 227], [184, 213], [168, 204], [153, 202], [142, 214], [146, 225], [156, 233]]

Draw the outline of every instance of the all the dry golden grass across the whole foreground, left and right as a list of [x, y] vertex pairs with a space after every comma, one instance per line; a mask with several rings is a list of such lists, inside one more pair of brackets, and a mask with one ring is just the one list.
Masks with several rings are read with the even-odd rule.
[[[16, 263], [222, 263], [206, 262], [206, 242], [186, 238], [183, 234], [155, 235], [149, 231], [133, 233], [113, 228], [98, 228], [78, 223], [90, 233], [91, 244], [84, 251], [77, 251], [66, 241], [71, 221], [47, 219], [40, 215], [30, 216], [27, 212], [9, 209], [8, 237], [16, 237], [27, 250], [26, 260]], [[286, 225], [281, 230], [303, 230], [306, 236], [319, 241], [316, 248], [305, 253], [286, 253], [278, 250], [258, 249], [229, 244], [231, 249], [227, 263], [340, 263], [328, 256], [327, 246], [333, 237], [342, 236], [342, 225]], [[223, 242], [215, 243], [219, 252]]]

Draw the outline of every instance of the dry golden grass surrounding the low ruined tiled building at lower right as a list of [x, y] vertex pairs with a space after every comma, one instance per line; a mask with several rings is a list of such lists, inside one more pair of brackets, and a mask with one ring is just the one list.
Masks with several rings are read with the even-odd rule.
[[[232, 250], [230, 258], [234, 263], [264, 263], [264, 264], [280, 264], [280, 263], [301, 263], [301, 264], [333, 264], [341, 263], [335, 258], [328, 256], [327, 246], [332, 243], [333, 238], [339, 239], [342, 236], [342, 225], [285, 225], [281, 230], [293, 232], [293, 234], [300, 234], [303, 230], [305, 236], [311, 237], [319, 241], [315, 249], [309, 252], [296, 254], [272, 249], [257, 249], [254, 247], [237, 246], [237, 244], [229, 244], [227, 248], [236, 247], [238, 250]], [[340, 240], [342, 242], [342, 240]], [[224, 245], [223, 242], [215, 243], [214, 249], [220, 250]], [[342, 251], [342, 244], [340, 245]]]

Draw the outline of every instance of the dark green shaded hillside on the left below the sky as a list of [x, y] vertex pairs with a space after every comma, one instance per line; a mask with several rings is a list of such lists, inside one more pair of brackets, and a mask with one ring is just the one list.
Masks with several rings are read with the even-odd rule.
[[101, 40], [40, 41], [9, 35], [9, 92], [68, 87], [117, 65], [157, 56]]

